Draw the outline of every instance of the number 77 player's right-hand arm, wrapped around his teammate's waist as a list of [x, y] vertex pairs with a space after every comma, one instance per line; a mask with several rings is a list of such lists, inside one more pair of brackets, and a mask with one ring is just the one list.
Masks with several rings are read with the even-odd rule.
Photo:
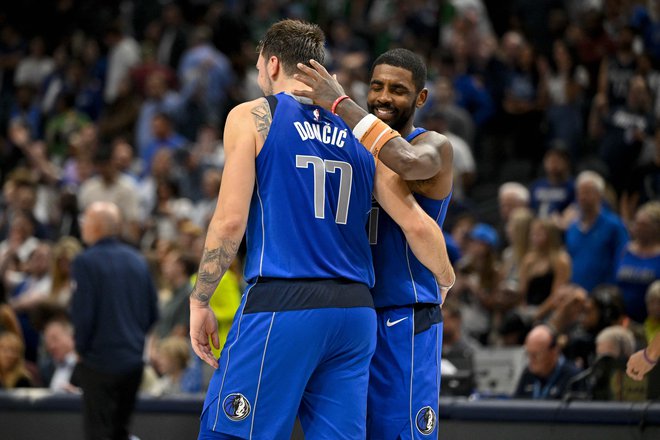
[[[376, 169], [374, 196], [380, 206], [401, 227], [415, 257], [435, 276], [441, 286], [454, 283], [442, 231], [417, 204], [406, 183], [383, 165]], [[443, 289], [443, 299], [446, 289]]]

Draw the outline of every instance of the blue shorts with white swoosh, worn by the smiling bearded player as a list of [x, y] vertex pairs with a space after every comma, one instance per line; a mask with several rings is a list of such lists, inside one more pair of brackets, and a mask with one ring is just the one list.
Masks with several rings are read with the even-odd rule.
[[367, 438], [438, 437], [442, 312], [437, 304], [377, 310]]

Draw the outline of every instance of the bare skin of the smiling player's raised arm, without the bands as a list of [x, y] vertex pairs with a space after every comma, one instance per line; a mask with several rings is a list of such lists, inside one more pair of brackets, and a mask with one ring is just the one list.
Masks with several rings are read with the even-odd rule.
[[[298, 64], [299, 73], [294, 77], [311, 87], [311, 90], [295, 90], [294, 94], [310, 98], [314, 104], [330, 110], [334, 101], [344, 94], [344, 89], [325, 67], [315, 60], [310, 63], [313, 68]], [[336, 112], [351, 128], [368, 114], [351, 99], [343, 100]], [[442, 167], [437, 145], [420, 143], [413, 147], [402, 137], [393, 138], [383, 145], [379, 158], [404, 180], [430, 179]]]

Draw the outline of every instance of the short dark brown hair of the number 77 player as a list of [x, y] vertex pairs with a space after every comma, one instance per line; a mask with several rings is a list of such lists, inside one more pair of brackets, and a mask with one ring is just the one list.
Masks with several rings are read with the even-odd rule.
[[313, 23], [300, 20], [281, 20], [272, 25], [257, 49], [264, 58], [279, 58], [284, 73], [296, 73], [296, 65], [309, 65], [310, 59], [323, 64], [325, 61], [325, 34]]

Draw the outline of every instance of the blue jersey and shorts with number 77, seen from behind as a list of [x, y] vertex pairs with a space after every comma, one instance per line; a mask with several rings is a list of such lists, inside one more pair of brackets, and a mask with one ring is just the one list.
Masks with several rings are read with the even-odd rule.
[[200, 439], [364, 438], [375, 349], [365, 233], [371, 154], [337, 116], [288, 94], [256, 158], [249, 285], [204, 403]]

